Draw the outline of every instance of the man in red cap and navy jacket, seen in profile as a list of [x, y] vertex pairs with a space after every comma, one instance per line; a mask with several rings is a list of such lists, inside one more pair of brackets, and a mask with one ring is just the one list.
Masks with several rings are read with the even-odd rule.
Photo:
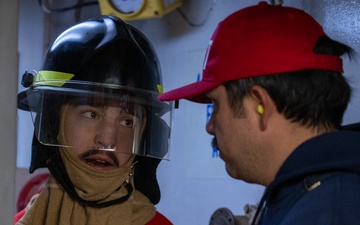
[[260, 2], [211, 38], [200, 81], [163, 101], [213, 103], [206, 131], [227, 173], [266, 186], [253, 224], [358, 224], [359, 125], [341, 127], [351, 96], [342, 55], [303, 10]]

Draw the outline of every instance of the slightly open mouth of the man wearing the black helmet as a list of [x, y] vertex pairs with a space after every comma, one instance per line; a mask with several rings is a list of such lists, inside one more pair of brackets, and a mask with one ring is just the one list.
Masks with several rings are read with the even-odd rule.
[[91, 150], [82, 155], [81, 159], [89, 166], [101, 170], [110, 170], [118, 167], [117, 159], [112, 152]]

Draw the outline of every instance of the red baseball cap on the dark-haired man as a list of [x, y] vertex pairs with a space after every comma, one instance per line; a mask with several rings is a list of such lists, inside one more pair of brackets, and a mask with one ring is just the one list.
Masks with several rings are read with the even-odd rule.
[[340, 57], [313, 52], [325, 35], [303, 10], [266, 2], [241, 9], [220, 22], [213, 33], [202, 79], [158, 98], [208, 103], [204, 93], [230, 80], [302, 69], [343, 72]]

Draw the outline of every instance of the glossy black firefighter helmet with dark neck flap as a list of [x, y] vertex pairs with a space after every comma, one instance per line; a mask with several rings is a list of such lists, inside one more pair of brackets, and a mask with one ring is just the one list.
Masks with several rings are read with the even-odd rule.
[[[36, 114], [30, 172], [48, 167], [48, 158], [58, 155], [61, 105], [74, 97], [100, 96], [141, 106], [146, 122], [134, 141], [133, 153], [140, 163], [153, 162], [155, 170], [140, 164], [143, 172], [137, 173], [152, 171], [149, 177], [157, 187], [157, 164], [169, 155], [172, 106], [157, 99], [162, 92], [158, 58], [139, 30], [113, 16], [74, 25], [50, 46], [42, 69], [35, 74], [26, 72], [22, 83], [27, 89], [18, 94], [18, 108]], [[142, 186], [136, 177], [135, 185]]]

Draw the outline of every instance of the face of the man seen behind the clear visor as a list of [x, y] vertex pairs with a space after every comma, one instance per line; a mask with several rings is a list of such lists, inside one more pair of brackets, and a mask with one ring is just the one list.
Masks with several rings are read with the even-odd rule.
[[[118, 101], [76, 99], [61, 110], [65, 142], [79, 158], [98, 169], [124, 165], [132, 156], [135, 117]], [[105, 149], [105, 150], [104, 150]]]

